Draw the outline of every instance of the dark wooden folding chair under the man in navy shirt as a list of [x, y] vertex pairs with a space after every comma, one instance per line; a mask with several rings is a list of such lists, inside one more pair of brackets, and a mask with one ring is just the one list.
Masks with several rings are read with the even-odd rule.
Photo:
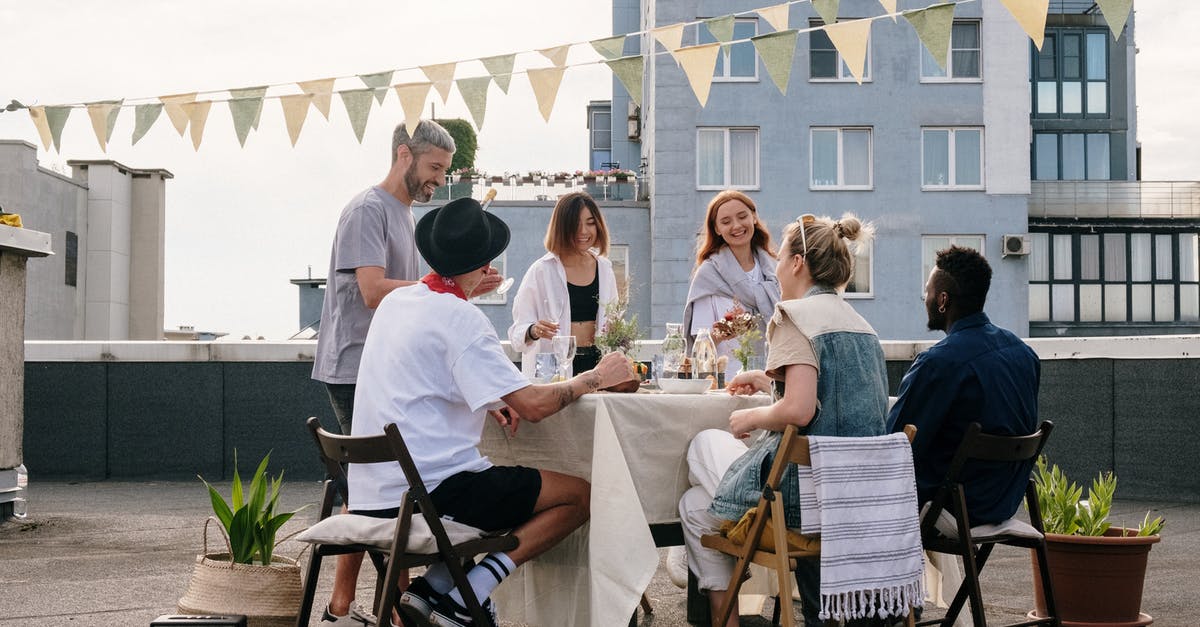
[[966, 490], [962, 486], [962, 468], [968, 460], [1021, 464], [1037, 459], [1045, 447], [1054, 423], [1045, 420], [1037, 431], [1027, 436], [986, 435], [979, 423], [971, 423], [962, 442], [959, 444], [946, 479], [938, 488], [930, 506], [920, 516], [920, 537], [926, 550], [947, 553], [962, 557], [962, 585], [954, 595], [954, 602], [938, 620], [923, 621], [918, 625], [942, 625], [950, 627], [958, 619], [966, 599], [971, 598], [971, 614], [976, 627], [986, 627], [983, 595], [979, 591], [979, 572], [988, 562], [988, 556], [997, 544], [1033, 549], [1038, 556], [1042, 571], [1042, 593], [1045, 595], [1049, 616], [1032, 621], [1016, 622], [1007, 627], [1025, 627], [1033, 625], [1058, 626], [1058, 610], [1055, 607], [1054, 590], [1050, 586], [1050, 573], [1046, 572], [1045, 536], [1042, 529], [1042, 510], [1038, 508], [1038, 495], [1031, 478], [1025, 488], [1025, 506], [1028, 508], [1030, 522], [1012, 518], [998, 525], [979, 525], [971, 527], [967, 515]]

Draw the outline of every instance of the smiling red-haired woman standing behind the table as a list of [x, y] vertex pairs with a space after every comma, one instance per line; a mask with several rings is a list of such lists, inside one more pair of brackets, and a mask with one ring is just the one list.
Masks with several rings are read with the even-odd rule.
[[[749, 196], [737, 190], [721, 191], [708, 203], [683, 310], [689, 351], [700, 329], [710, 329], [716, 354], [728, 358], [725, 377], [732, 380], [742, 368], [733, 359], [737, 340], [721, 335], [713, 323], [737, 304], [758, 315], [758, 330], [766, 338], [766, 318], [775, 311], [778, 301], [775, 250], [767, 226]], [[766, 345], [762, 340], [758, 344], [756, 354], [766, 356]]]

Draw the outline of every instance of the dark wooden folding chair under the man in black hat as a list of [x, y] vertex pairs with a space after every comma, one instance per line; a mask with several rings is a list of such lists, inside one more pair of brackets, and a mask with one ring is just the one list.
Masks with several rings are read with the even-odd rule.
[[[409, 489], [401, 503], [395, 533], [386, 550], [382, 550], [376, 544], [367, 542], [313, 543], [296, 626], [305, 627], [308, 625], [308, 615], [312, 613], [312, 601], [317, 591], [317, 580], [320, 575], [322, 557], [364, 551], [371, 556], [371, 561], [374, 563], [379, 575], [376, 579], [374, 614], [380, 621], [389, 621], [391, 619], [391, 610], [396, 607], [398, 599], [396, 585], [402, 571], [414, 566], [445, 562], [450, 571], [450, 577], [462, 592], [472, 620], [475, 621], [475, 625], [488, 625], [490, 619], [486, 617], [486, 613], [480, 605], [479, 599], [475, 598], [470, 584], [467, 583], [464, 563], [475, 555], [515, 549], [517, 547], [516, 536], [510, 533], [479, 532], [478, 535], [473, 535], [474, 537], [470, 539], [458, 543], [451, 542], [446, 535], [445, 525], [439, 518], [437, 508], [433, 507], [433, 501], [430, 500], [428, 491], [425, 489], [425, 482], [421, 480], [421, 476], [416, 471], [416, 465], [408, 453], [404, 438], [400, 435], [400, 428], [395, 424], [389, 424], [382, 435], [358, 437], [335, 435], [325, 431], [317, 418], [308, 418], [307, 425], [313, 440], [317, 442], [325, 471], [331, 477], [325, 480], [324, 496], [320, 503], [322, 521], [330, 518], [332, 513], [335, 490], [341, 494], [343, 502], [350, 502], [346, 484], [347, 464], [398, 462]], [[418, 524], [415, 525], [416, 529], [414, 529], [413, 515], [416, 512], [420, 515], [418, 521], [424, 520], [425, 525]], [[433, 537], [436, 547], [428, 553], [409, 553], [408, 548], [418, 544], [416, 536], [426, 526], [428, 533]]]

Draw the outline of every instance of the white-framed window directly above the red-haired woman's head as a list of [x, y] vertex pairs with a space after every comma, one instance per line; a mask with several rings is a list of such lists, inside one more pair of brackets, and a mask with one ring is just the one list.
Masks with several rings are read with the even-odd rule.
[[758, 189], [758, 129], [698, 129], [696, 187]]

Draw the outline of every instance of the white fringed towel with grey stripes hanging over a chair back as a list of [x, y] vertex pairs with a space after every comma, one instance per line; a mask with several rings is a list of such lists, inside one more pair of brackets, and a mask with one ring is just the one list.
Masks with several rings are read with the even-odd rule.
[[908, 438], [809, 436], [809, 450], [800, 532], [821, 536], [821, 619], [906, 615], [925, 598]]

